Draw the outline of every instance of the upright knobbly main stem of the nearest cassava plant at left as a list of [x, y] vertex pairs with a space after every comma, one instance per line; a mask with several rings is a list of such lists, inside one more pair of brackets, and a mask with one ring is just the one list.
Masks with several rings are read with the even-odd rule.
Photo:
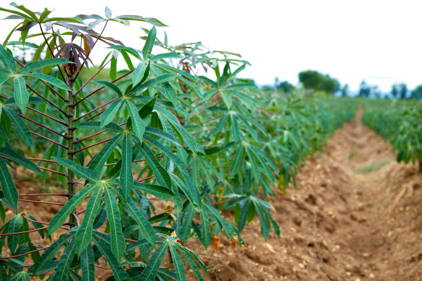
[[[74, 126], [73, 126], [73, 118], [74, 118], [74, 110], [75, 107], [72, 106], [74, 105], [74, 96], [73, 96], [73, 80], [69, 79], [70, 81], [70, 89], [72, 89], [71, 91], [68, 91], [68, 112], [67, 112], [67, 116], [68, 116], [68, 159], [70, 161], [74, 161]], [[74, 196], [74, 194], [76, 193], [76, 185], [74, 184], [74, 174], [73, 171], [71, 171], [70, 169], [68, 169], [68, 200], [70, 200], [72, 198], [72, 196]], [[77, 219], [70, 214], [69, 216], [69, 224], [70, 224], [70, 228], [74, 227], [77, 225]]]

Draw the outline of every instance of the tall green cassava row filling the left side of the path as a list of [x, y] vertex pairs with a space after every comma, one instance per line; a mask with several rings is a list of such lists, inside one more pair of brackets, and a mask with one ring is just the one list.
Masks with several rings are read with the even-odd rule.
[[[242, 245], [256, 215], [265, 239], [271, 227], [278, 236], [270, 184], [284, 189], [354, 111], [344, 99], [261, 92], [237, 78], [249, 64], [239, 54], [169, 45], [154, 18], [11, 5], [0, 8], [19, 21], [0, 45], [3, 279], [94, 280], [105, 261], [108, 280], [185, 280], [185, 267], [203, 280], [205, 265], [183, 243], [206, 248], [225, 235]], [[136, 21], [146, 28], [133, 48], [106, 35]], [[23, 173], [60, 191], [26, 194], [16, 185]], [[23, 204], [61, 209], [41, 222]]]

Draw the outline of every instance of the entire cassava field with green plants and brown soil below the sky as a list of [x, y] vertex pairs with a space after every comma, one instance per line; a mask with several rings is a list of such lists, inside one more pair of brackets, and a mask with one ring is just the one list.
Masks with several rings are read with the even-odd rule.
[[421, 101], [261, 88], [159, 19], [0, 10], [0, 280], [422, 280]]

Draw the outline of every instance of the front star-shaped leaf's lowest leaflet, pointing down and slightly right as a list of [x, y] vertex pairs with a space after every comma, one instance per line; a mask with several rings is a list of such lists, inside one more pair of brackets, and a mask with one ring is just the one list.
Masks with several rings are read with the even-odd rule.
[[104, 189], [108, 224], [110, 225], [111, 249], [117, 260], [125, 253], [126, 243], [121, 231], [121, 218], [117, 200], [108, 188]]

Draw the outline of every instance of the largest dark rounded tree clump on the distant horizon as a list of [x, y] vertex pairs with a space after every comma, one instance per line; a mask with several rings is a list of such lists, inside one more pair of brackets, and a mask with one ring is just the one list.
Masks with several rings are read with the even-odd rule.
[[324, 91], [334, 94], [340, 90], [340, 83], [337, 79], [328, 74], [321, 74], [315, 70], [306, 70], [299, 73], [299, 81], [307, 90]]

